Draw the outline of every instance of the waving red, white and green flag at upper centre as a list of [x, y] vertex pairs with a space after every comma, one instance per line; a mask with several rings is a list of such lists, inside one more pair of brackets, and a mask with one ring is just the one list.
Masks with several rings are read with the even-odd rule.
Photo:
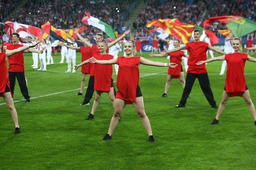
[[86, 24], [86, 25], [92, 25], [100, 30], [102, 30], [103, 32], [105, 32], [112, 40], [116, 40], [116, 34], [112, 28], [112, 26], [103, 23], [102, 21], [100, 21], [98, 18], [94, 18], [91, 16], [90, 12], [85, 12], [85, 14], [87, 15], [86, 17], [83, 17], [82, 19], [82, 23]]

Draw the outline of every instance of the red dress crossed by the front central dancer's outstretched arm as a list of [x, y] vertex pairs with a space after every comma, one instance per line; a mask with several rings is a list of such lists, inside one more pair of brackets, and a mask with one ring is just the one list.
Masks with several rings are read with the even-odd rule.
[[[98, 60], [110, 60], [114, 57], [110, 54], [96, 54], [93, 56]], [[110, 64], [95, 64], [95, 79], [94, 90], [109, 92], [111, 87], [111, 79], [113, 74], [113, 67]]]

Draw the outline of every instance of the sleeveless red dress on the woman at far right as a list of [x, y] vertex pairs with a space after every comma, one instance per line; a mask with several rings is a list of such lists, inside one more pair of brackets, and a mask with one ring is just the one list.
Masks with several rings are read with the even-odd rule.
[[231, 93], [230, 97], [242, 96], [239, 92], [245, 92], [245, 61], [247, 60], [247, 54], [233, 53], [226, 54], [225, 60], [227, 61], [227, 73], [226, 73], [226, 92]]

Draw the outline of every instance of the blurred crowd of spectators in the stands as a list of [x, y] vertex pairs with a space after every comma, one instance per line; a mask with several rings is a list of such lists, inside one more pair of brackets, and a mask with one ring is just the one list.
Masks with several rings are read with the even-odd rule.
[[[22, 4], [21, 2], [24, 1], [4, 0], [0, 2], [1, 22], [17, 21], [41, 27], [42, 24], [50, 21], [57, 29], [78, 28], [85, 26], [81, 19], [85, 16], [84, 12], [86, 11], [90, 12], [91, 16], [116, 28], [123, 26], [139, 0], [63, 0], [61, 3], [57, 0], [27, 0], [17, 9], [16, 7], [18, 4]], [[141, 10], [133, 27], [139, 36], [147, 36], [149, 28], [146, 28], [146, 23], [156, 19], [176, 18], [184, 24], [201, 27], [207, 18], [222, 15], [238, 15], [255, 22], [255, 7], [256, 0], [234, 0], [232, 3], [229, 0], [148, 0], [147, 6]], [[12, 12], [12, 10], [15, 11]], [[4, 18], [5, 21], [3, 21]], [[215, 22], [207, 29], [221, 35], [217, 30], [226, 29], [226, 26], [224, 23]], [[1, 35], [3, 30], [2, 26]], [[94, 34], [98, 31], [97, 28], [89, 26], [84, 34]]]

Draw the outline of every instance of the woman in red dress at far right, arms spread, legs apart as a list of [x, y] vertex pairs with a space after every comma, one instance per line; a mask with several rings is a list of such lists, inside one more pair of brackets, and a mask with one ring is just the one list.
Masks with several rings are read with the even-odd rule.
[[251, 101], [249, 90], [246, 86], [244, 67], [245, 61], [256, 62], [255, 58], [250, 57], [247, 54], [240, 53], [242, 42], [239, 38], [234, 38], [232, 42], [232, 47], [235, 50], [232, 54], [226, 54], [221, 57], [214, 57], [212, 59], [207, 59], [205, 61], [199, 61], [197, 65], [201, 65], [206, 62], [216, 61], [216, 60], [226, 60], [227, 61], [227, 74], [225, 88], [222, 94], [222, 100], [216, 115], [216, 118], [211, 123], [212, 125], [219, 123], [219, 118], [224, 110], [225, 104], [229, 97], [233, 96], [243, 96], [245, 103], [248, 105], [249, 110], [254, 118], [254, 124], [256, 125], [256, 111], [255, 107]]

